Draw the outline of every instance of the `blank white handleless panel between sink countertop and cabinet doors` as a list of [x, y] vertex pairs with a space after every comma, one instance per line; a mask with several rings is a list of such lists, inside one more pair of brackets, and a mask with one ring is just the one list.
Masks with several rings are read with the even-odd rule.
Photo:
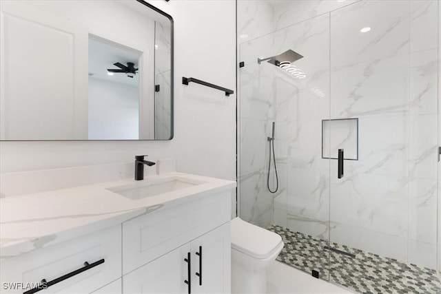
[[123, 274], [229, 221], [232, 191], [123, 223]]

